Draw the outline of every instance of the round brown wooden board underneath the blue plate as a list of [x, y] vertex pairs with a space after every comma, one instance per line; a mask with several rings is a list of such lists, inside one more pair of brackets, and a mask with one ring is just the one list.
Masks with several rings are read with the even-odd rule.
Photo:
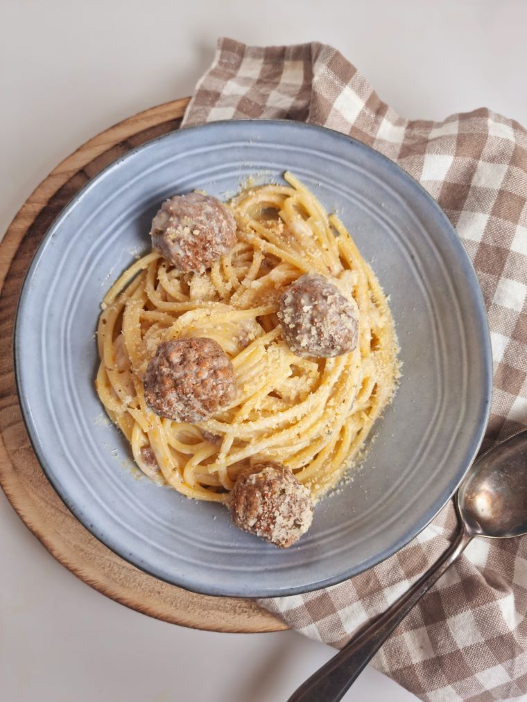
[[65, 507], [37, 461], [20, 413], [13, 370], [15, 310], [27, 267], [49, 225], [83, 185], [112, 161], [174, 131], [188, 98], [125, 119], [65, 159], [27, 199], [0, 244], [0, 484], [13, 508], [60, 563], [103, 595], [170, 623], [228, 632], [287, 626], [254, 600], [206, 597], [125, 562]]

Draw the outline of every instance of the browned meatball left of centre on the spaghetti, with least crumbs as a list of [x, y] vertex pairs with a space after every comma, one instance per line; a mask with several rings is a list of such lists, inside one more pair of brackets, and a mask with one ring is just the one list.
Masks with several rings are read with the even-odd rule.
[[176, 422], [200, 422], [236, 394], [233, 364], [208, 338], [164, 341], [143, 378], [150, 409]]

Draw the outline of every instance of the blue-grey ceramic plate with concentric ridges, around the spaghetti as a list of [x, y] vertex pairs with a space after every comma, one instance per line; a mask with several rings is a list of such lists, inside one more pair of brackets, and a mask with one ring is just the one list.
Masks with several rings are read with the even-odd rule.
[[[160, 202], [194, 188], [226, 198], [292, 171], [338, 211], [372, 263], [401, 343], [403, 379], [353, 482], [315, 510], [298, 545], [230, 524], [220, 505], [137, 479], [93, 388], [100, 301], [148, 251]], [[332, 585], [396, 552], [436, 515], [479, 447], [491, 359], [483, 299], [433, 199], [381, 154], [285, 121], [231, 121], [152, 141], [106, 168], [60, 214], [25, 280], [15, 333], [22, 410], [46, 475], [109, 548], [208, 595], [269, 597]]]

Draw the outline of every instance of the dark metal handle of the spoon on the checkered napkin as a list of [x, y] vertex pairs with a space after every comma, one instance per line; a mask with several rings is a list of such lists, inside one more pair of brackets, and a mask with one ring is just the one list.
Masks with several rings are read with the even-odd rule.
[[337, 702], [360, 675], [393, 630], [403, 621], [427, 590], [460, 557], [472, 535], [461, 529], [455, 541], [434, 565], [391, 607], [356, 635], [294, 691], [287, 702]]

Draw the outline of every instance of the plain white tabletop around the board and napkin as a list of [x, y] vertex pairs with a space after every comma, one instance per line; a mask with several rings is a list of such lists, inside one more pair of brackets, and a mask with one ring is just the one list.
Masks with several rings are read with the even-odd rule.
[[[0, 232], [58, 161], [189, 95], [216, 37], [337, 46], [402, 115], [487, 106], [527, 124], [524, 0], [1, 0]], [[5, 702], [281, 702], [332, 649], [293, 632], [185, 629], [91, 590], [0, 491]], [[367, 668], [345, 699], [416, 698]], [[526, 698], [527, 699], [527, 698]]]

